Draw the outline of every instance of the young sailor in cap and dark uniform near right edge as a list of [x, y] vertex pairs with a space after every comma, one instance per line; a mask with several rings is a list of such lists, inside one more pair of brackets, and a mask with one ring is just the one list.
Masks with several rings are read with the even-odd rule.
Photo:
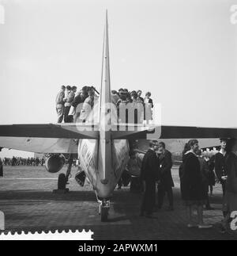
[[218, 178], [218, 181], [222, 185], [223, 196], [225, 193], [225, 184], [227, 180], [227, 172], [225, 170], [225, 165], [224, 165], [225, 159], [228, 156], [226, 151], [227, 141], [228, 139], [220, 139], [220, 151], [215, 155], [216, 177]]

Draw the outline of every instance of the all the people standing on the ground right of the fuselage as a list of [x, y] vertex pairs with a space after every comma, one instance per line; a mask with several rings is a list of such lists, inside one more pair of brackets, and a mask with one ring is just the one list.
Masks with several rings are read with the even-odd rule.
[[[220, 139], [220, 151], [209, 159], [201, 154], [197, 139], [190, 139], [186, 143], [182, 152], [179, 178], [182, 201], [187, 212], [187, 227], [212, 227], [212, 225], [205, 224], [203, 210], [204, 206], [208, 210], [213, 210], [209, 203], [209, 188], [210, 195], [212, 195], [213, 185], [218, 182], [222, 185], [224, 198], [224, 220], [220, 231], [225, 232], [227, 230], [231, 220], [231, 212], [237, 210], [237, 155], [233, 151], [234, 145], [233, 139]], [[145, 155], [141, 157], [139, 152], [134, 152], [130, 157], [130, 162], [136, 162], [141, 169], [139, 181], [141, 182], [141, 190], [145, 190], [141, 203], [141, 216], [152, 217], [153, 212], [159, 211], [163, 207], [166, 194], [169, 202], [167, 210], [173, 211], [172, 158], [165, 144], [152, 140]], [[132, 170], [133, 164], [130, 162], [128, 170], [133, 172], [136, 168]], [[121, 184], [119, 184], [120, 187]], [[194, 219], [195, 210], [198, 213], [198, 222], [195, 222]]]

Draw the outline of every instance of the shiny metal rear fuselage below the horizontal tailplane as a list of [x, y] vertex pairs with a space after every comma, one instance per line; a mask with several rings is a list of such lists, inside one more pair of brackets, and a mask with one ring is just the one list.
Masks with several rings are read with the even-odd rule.
[[80, 139], [78, 158], [81, 168], [100, 198], [111, 197], [129, 160], [126, 139]]

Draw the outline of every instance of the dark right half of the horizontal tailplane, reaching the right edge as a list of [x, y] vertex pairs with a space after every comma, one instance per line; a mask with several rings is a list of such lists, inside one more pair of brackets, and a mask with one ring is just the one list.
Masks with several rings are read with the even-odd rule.
[[113, 127], [112, 139], [208, 139], [237, 138], [237, 128], [205, 128], [165, 125], [127, 125]]

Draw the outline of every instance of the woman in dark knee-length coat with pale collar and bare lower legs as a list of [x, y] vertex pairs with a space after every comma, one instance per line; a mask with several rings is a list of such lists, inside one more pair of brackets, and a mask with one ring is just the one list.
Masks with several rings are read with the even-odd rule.
[[[206, 202], [205, 189], [202, 184], [201, 166], [196, 155], [199, 146], [197, 139], [190, 139], [188, 142], [190, 151], [183, 155], [183, 169], [181, 181], [182, 200], [186, 204], [188, 215], [187, 227], [210, 228], [212, 225], [203, 221], [203, 205]], [[197, 208], [198, 224], [194, 223], [193, 212]]]

